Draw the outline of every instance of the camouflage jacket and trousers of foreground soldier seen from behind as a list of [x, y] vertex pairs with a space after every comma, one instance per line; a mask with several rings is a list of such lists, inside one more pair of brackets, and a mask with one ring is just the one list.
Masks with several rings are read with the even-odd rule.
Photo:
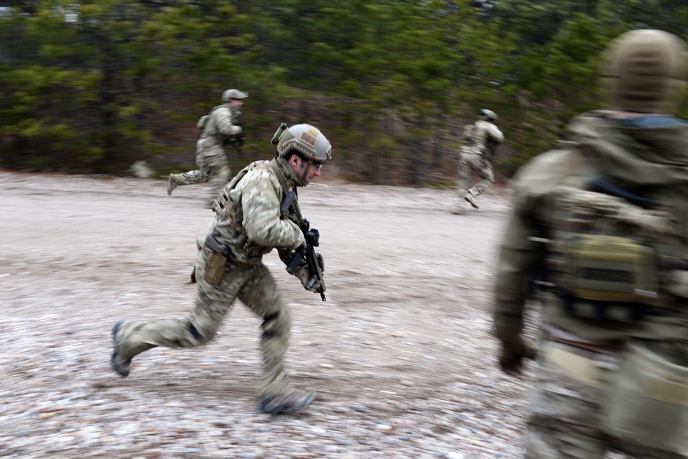
[[[503, 345], [500, 361], [505, 368], [515, 367], [515, 362], [528, 354], [520, 334], [527, 295], [524, 286], [538, 277], [542, 263], [543, 250], [535, 241], [551, 237], [558, 202], [555, 191], [561, 189], [579, 155], [603, 176], [651, 190], [653, 198], [668, 193], [679, 202], [688, 202], [685, 122], [657, 116], [622, 121], [599, 111], [579, 116], [569, 131], [570, 138], [578, 142], [577, 149], [537, 156], [516, 178], [515, 209], [504, 231], [494, 312], [495, 333]], [[680, 213], [688, 213], [688, 208], [684, 205]], [[680, 231], [685, 254], [688, 226], [681, 226]], [[570, 303], [555, 292], [544, 291], [541, 297], [544, 332], [524, 457], [593, 459], [605, 457], [607, 449], [620, 449], [628, 458], [688, 458], [688, 444], [682, 451], [644, 445], [616, 436], [605, 421], [605, 416], [610, 416], [609, 387], [621, 378], [620, 365], [627, 362], [628, 343], [672, 343], [678, 350], [656, 353], [682, 365], [688, 363], [688, 349], [679, 343], [688, 337], [688, 298], [674, 299], [682, 305], [675, 310], [614, 325], [572, 314]], [[662, 416], [647, 416], [646, 432], [659, 436], [667, 431]]]

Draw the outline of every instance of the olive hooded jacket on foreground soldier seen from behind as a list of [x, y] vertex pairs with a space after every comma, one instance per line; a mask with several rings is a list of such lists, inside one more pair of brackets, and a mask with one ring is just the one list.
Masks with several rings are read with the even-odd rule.
[[[568, 126], [572, 147], [542, 153], [515, 178], [514, 208], [499, 253], [495, 285], [495, 334], [516, 343], [524, 324], [524, 304], [531, 281], [541, 268], [543, 250], [534, 237], [548, 237], [553, 224], [555, 190], [581, 157], [612, 182], [641, 190], [649, 198], [669, 198], [688, 215], [688, 124], [665, 116], [613, 118], [593, 111]], [[688, 225], [678, 227], [678, 256], [688, 260]], [[619, 325], [568, 314], [561, 299], [543, 292], [543, 319], [592, 341], [688, 339], [688, 299], [679, 299], [673, 316]], [[684, 307], [685, 306], [685, 307]]]

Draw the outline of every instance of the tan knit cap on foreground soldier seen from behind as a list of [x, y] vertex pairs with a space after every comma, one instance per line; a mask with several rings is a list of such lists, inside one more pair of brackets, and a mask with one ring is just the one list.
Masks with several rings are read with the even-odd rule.
[[605, 56], [615, 109], [660, 113], [678, 100], [686, 71], [686, 43], [663, 30], [638, 29], [614, 39]]

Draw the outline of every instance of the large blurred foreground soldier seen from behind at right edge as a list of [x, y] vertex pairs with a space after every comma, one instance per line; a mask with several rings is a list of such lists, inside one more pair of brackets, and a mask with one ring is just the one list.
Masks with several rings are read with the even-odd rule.
[[[612, 110], [574, 118], [519, 171], [496, 281], [499, 365], [522, 374], [528, 284], [541, 343], [526, 458], [688, 458], [688, 124], [666, 115], [685, 43], [612, 42]], [[540, 274], [539, 274], [540, 273]]]

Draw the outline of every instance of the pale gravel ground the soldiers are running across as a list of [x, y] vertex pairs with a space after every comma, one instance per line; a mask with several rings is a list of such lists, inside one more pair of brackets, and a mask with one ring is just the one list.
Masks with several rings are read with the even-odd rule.
[[165, 185], [0, 171], [0, 456], [520, 457], [530, 373], [497, 370], [488, 314], [504, 191], [457, 216], [451, 191], [303, 189], [327, 302], [265, 261], [292, 307], [290, 372], [319, 400], [269, 416], [260, 320], [238, 301], [204, 348], [151, 350], [128, 378], [109, 367], [115, 321], [191, 309], [212, 213], [202, 186]]

